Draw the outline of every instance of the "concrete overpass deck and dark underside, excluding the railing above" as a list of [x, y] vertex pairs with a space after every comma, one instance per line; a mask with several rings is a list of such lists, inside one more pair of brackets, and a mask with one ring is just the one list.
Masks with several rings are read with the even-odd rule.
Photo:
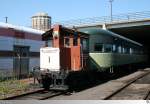
[[111, 22], [97, 25], [84, 25], [76, 28], [106, 28], [117, 34], [142, 43], [146, 47], [150, 44], [150, 18], [132, 21]]

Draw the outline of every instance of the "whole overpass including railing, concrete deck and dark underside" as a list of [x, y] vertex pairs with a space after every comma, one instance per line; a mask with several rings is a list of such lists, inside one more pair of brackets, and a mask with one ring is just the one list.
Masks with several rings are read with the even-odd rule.
[[57, 22], [66, 27], [106, 28], [115, 33], [149, 46], [150, 40], [150, 11], [127, 13], [110, 16], [93, 17], [78, 20]]

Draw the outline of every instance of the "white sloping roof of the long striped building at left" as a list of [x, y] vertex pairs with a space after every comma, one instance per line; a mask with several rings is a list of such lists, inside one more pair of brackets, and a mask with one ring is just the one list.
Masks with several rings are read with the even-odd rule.
[[36, 29], [29, 28], [29, 27], [24, 27], [24, 26], [15, 26], [15, 25], [3, 23], [3, 22], [0, 22], [0, 28], [15, 29], [15, 30], [29, 32], [33, 34], [39, 34], [39, 35], [44, 33], [44, 31], [41, 31], [41, 30], [36, 30]]

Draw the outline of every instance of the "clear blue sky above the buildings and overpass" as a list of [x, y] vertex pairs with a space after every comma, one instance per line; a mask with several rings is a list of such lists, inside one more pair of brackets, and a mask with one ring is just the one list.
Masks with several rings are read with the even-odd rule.
[[[0, 22], [31, 26], [37, 12], [48, 13], [53, 21], [110, 15], [109, 0], [0, 0]], [[113, 14], [149, 11], [150, 0], [114, 0]]]

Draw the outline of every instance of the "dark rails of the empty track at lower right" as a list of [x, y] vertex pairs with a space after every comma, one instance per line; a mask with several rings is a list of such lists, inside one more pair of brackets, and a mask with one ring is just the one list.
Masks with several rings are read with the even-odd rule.
[[[135, 82], [137, 82], [138, 80], [144, 78], [145, 76], [148, 76], [150, 74], [150, 71], [145, 71], [145, 73], [143, 73], [142, 75], [139, 75], [135, 78], [133, 78], [131, 81], [127, 82], [125, 85], [123, 85], [121, 88], [119, 88], [118, 90], [116, 90], [115, 92], [111, 93], [110, 95], [106, 96], [103, 100], [116, 100], [118, 96], [119, 97], [119, 94], [120, 96], [124, 96], [124, 98], [126, 97], [126, 95], [123, 95], [123, 90], [127, 90], [128, 87], [130, 87], [131, 85], [135, 84]], [[150, 83], [149, 83], [150, 84]], [[135, 89], [136, 90], [136, 89]], [[124, 91], [125, 92], [125, 91]], [[135, 92], [134, 92], [135, 94]], [[138, 95], [138, 94], [137, 94]], [[127, 94], [128, 97], [129, 94]], [[132, 96], [131, 96], [132, 97]], [[120, 99], [120, 98], [119, 98]], [[125, 98], [126, 99], [126, 98]], [[148, 100], [150, 99], [150, 89], [147, 89], [147, 93], [145, 93], [145, 96], [142, 98], [143, 100]]]

